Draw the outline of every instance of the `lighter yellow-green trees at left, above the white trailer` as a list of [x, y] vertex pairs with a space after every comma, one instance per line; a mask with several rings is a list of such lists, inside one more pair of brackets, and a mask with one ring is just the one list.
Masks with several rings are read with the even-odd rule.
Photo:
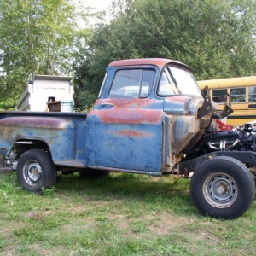
[[71, 0], [0, 0], [0, 108], [13, 109], [35, 73], [71, 73], [86, 13]]

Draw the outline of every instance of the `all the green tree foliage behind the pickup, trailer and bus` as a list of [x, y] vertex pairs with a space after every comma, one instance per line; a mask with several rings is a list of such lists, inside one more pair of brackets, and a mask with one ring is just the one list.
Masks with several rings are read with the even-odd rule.
[[35, 73], [73, 72], [75, 106], [90, 109], [105, 67], [125, 58], [183, 61], [196, 79], [255, 74], [255, 0], [114, 0], [105, 14], [91, 30], [71, 0], [0, 0], [0, 109], [15, 109]]

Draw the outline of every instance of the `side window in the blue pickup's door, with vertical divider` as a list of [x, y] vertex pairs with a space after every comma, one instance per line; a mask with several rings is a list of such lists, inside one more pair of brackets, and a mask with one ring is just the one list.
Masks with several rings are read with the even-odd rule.
[[153, 69], [119, 70], [113, 79], [109, 98], [147, 97], [154, 81]]

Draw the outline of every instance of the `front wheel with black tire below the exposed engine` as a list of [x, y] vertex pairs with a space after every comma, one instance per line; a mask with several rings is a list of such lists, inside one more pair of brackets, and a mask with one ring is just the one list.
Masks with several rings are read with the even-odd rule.
[[239, 160], [226, 156], [203, 162], [190, 183], [195, 207], [211, 218], [240, 217], [250, 207], [254, 194], [251, 172]]

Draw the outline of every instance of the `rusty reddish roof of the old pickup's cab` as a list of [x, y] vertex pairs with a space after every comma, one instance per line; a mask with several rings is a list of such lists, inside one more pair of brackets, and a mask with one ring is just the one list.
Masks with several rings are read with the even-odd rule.
[[165, 58], [144, 58], [144, 59], [128, 59], [128, 60], [113, 61], [108, 64], [108, 67], [139, 66], [139, 65], [154, 65], [157, 67], [164, 67], [168, 63], [185, 67], [194, 73], [194, 70], [188, 65], [180, 61], [174, 61], [174, 60], [165, 59]]

